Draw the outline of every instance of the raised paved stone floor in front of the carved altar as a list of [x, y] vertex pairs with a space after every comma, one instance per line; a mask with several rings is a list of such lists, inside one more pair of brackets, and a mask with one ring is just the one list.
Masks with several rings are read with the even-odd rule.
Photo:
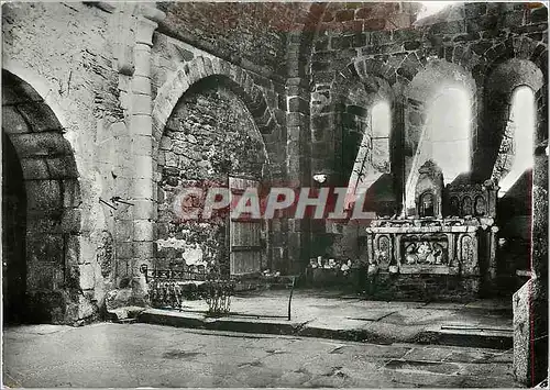
[[[204, 300], [185, 301], [184, 311], [172, 312], [172, 320], [177, 317], [191, 320], [178, 326], [189, 326], [188, 324], [194, 326], [194, 321], [199, 321], [198, 327], [211, 325], [206, 327], [239, 332], [249, 332], [248, 328], [251, 332], [261, 332], [257, 331], [258, 327], [267, 328], [278, 324], [282, 326], [280, 333], [284, 334], [320, 336], [326, 333], [334, 337], [337, 332], [367, 335], [367, 341], [376, 343], [415, 342], [422, 334], [440, 332], [442, 327], [471, 328], [472, 334], [491, 334], [495, 337], [504, 334], [508, 338], [512, 337], [512, 299], [475, 300], [469, 303], [385, 302], [331, 290], [296, 290], [292, 301], [292, 321], [288, 322], [286, 319], [288, 296], [288, 290], [266, 290], [232, 297], [231, 315], [218, 319], [219, 326], [208, 322], [210, 320], [205, 322], [204, 314], [208, 305]], [[166, 324], [165, 313], [166, 311], [163, 313], [158, 310], [148, 310], [146, 313], [150, 314], [148, 319], [144, 321]], [[163, 319], [152, 319], [163, 314]], [[280, 317], [270, 319], [273, 315]], [[290, 327], [290, 332], [284, 330], [285, 325]], [[299, 328], [299, 332], [294, 332], [295, 328]], [[279, 333], [278, 328], [275, 333]], [[358, 338], [352, 339], [358, 341]], [[466, 341], [464, 345], [470, 344]], [[491, 343], [477, 346], [496, 347]]]

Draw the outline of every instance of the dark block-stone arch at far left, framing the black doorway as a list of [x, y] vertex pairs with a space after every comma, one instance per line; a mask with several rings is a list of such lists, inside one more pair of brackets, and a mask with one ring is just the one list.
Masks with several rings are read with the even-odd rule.
[[[80, 187], [74, 152], [44, 98], [2, 69], [2, 133], [16, 153], [26, 198], [25, 321], [69, 322], [84, 297]], [[9, 260], [9, 259], [8, 259]]]

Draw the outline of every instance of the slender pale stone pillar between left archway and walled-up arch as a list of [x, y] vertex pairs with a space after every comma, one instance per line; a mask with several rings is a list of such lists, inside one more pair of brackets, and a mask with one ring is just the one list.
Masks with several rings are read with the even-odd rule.
[[153, 119], [151, 96], [151, 47], [153, 32], [165, 14], [152, 5], [141, 4], [136, 30], [133, 78], [131, 81], [130, 134], [133, 158], [133, 293], [136, 302], [145, 293], [144, 279], [140, 266], [154, 257], [156, 205], [154, 191]]

